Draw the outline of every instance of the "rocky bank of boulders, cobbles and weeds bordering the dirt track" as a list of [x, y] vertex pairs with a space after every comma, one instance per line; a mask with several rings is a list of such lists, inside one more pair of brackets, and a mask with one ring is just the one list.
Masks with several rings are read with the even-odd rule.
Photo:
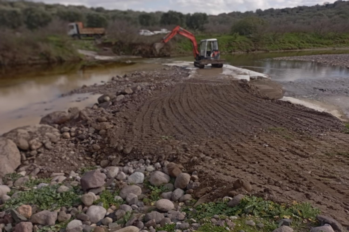
[[[290, 191], [281, 181], [263, 176], [260, 184], [234, 176], [230, 183], [208, 176], [193, 164], [208, 161], [212, 169], [219, 161], [199, 145], [166, 134], [142, 144], [143, 150], [125, 141], [120, 131], [137, 122], [130, 117], [147, 98], [162, 99], [158, 93], [181, 86], [190, 75], [166, 67], [83, 86], [68, 94], [103, 94], [93, 107], [53, 112], [39, 125], [1, 136], [0, 232], [344, 231], [310, 203], [271, 201], [270, 186]], [[237, 86], [252, 88], [246, 81]], [[334, 121], [333, 127], [341, 125]], [[256, 162], [246, 169], [254, 172], [250, 165]]]

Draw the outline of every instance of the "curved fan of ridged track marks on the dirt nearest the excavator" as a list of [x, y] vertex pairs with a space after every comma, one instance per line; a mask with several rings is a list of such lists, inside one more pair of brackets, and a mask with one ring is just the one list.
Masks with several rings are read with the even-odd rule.
[[132, 134], [126, 132], [126, 137], [132, 143], [139, 143], [137, 147], [161, 136], [188, 141], [210, 137], [244, 141], [260, 129], [322, 131], [327, 130], [328, 124], [337, 128], [339, 125], [328, 114], [307, 108], [295, 110], [291, 104], [255, 96], [238, 81], [227, 84], [190, 80], [149, 99], [134, 120]]

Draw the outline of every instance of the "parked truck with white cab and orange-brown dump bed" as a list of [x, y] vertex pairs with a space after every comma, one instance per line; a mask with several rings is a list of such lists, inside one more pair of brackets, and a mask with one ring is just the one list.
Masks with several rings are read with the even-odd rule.
[[82, 22], [75, 22], [68, 24], [68, 35], [75, 39], [84, 37], [101, 38], [105, 35], [105, 29], [103, 27], [84, 27]]

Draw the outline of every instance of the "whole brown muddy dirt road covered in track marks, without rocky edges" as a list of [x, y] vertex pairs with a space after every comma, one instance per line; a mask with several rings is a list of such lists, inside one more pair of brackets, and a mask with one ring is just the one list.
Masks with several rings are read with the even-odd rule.
[[110, 145], [132, 147], [127, 159], [172, 159], [206, 176], [214, 197], [236, 178], [268, 199], [307, 201], [349, 225], [349, 135], [328, 113], [262, 96], [253, 82], [183, 80], [128, 107], [127, 125]]

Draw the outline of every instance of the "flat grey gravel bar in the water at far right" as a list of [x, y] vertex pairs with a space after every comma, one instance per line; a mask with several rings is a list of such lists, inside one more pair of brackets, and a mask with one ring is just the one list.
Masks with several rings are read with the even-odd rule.
[[349, 68], [349, 54], [288, 56], [273, 58], [278, 61], [311, 61]]

